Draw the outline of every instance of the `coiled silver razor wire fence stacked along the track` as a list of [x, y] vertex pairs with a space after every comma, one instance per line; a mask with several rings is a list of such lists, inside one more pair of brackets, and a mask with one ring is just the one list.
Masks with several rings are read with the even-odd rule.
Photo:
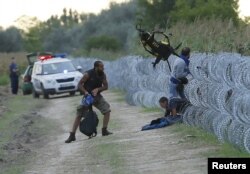
[[[173, 65], [176, 57], [171, 56]], [[74, 59], [86, 71], [97, 59]], [[159, 107], [158, 100], [169, 96], [170, 71], [161, 61], [140, 56], [104, 61], [111, 88], [126, 91], [131, 105]], [[250, 57], [234, 53], [193, 54], [185, 95], [192, 103], [183, 112], [185, 124], [201, 127], [250, 153]]]

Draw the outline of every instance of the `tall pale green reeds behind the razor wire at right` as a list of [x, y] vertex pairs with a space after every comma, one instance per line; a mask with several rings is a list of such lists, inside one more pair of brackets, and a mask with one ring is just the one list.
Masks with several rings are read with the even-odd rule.
[[236, 27], [232, 20], [216, 18], [196, 19], [192, 23], [177, 22], [167, 32], [172, 32], [171, 44], [189, 46], [199, 52], [239, 52], [250, 55], [249, 25]]

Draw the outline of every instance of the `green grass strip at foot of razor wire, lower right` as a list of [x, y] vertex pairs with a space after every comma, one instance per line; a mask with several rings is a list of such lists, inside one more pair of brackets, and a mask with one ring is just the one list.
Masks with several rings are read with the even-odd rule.
[[190, 136], [189, 140], [194, 145], [211, 145], [215, 146], [214, 150], [210, 150], [202, 155], [207, 157], [250, 157], [247, 152], [235, 148], [227, 142], [219, 142], [217, 137], [205, 130], [192, 127], [185, 124], [176, 124], [173, 126], [173, 131], [179, 133], [181, 136]]

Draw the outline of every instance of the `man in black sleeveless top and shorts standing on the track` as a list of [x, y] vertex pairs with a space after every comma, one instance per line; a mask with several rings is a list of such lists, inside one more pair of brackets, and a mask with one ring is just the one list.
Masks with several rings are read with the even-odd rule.
[[[91, 94], [94, 97], [93, 105], [104, 115], [102, 136], [112, 134], [107, 130], [111, 112], [110, 105], [101, 95], [102, 91], [108, 89], [108, 81], [106, 78], [106, 74], [104, 73], [104, 65], [101, 61], [95, 61], [94, 68], [84, 73], [82, 79], [79, 82], [78, 87], [84, 94], [84, 96]], [[77, 116], [75, 118], [72, 131], [70, 132], [70, 136], [65, 141], [65, 143], [70, 143], [76, 140], [76, 130], [79, 127], [81, 118], [84, 117], [84, 114], [87, 109], [88, 108], [83, 105], [79, 105], [77, 107]]]

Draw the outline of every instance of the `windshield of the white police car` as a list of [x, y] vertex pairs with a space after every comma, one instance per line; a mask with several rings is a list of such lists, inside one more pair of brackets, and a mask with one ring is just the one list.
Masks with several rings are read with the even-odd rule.
[[42, 74], [58, 74], [76, 71], [76, 68], [71, 62], [60, 62], [43, 65]]

